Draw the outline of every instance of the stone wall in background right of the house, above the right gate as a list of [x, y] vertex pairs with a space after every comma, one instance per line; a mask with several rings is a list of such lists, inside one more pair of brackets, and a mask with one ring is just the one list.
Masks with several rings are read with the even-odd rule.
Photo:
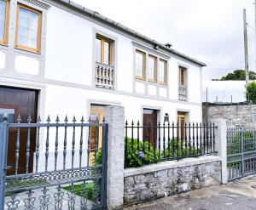
[[228, 126], [256, 126], [256, 105], [213, 105], [203, 104], [203, 119], [212, 122], [213, 119], [226, 119]]

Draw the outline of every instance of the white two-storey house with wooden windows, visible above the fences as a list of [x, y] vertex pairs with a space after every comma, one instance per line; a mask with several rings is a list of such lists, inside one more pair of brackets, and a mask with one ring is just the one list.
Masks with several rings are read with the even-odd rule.
[[10, 122], [102, 120], [106, 105], [124, 106], [129, 122], [201, 122], [203, 66], [67, 0], [0, 0], [0, 113]]

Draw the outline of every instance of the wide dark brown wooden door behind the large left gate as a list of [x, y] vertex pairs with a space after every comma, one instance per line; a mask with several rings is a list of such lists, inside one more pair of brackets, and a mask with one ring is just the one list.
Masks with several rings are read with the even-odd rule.
[[[7, 88], [0, 86], [0, 121], [3, 121], [3, 112], [9, 114], [9, 122], [16, 122], [20, 114], [21, 122], [27, 122], [27, 117], [31, 115], [32, 122], [37, 122], [38, 111], [38, 91], [21, 88]], [[15, 173], [15, 147], [17, 139], [17, 129], [9, 130], [8, 146], [8, 174]], [[27, 128], [20, 129], [20, 153], [18, 173], [26, 171], [26, 140]], [[31, 130], [31, 146], [29, 159], [29, 172], [32, 172], [33, 153], [35, 151], [36, 129]]]

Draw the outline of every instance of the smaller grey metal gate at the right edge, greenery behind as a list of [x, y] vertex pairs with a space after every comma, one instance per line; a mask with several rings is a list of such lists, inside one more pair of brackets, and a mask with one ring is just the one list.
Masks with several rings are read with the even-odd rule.
[[255, 128], [228, 128], [227, 167], [229, 180], [256, 173]]

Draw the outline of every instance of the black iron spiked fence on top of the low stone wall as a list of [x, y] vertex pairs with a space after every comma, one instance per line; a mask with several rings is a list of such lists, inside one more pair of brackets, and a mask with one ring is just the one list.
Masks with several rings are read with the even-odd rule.
[[216, 153], [214, 123], [125, 122], [125, 167]]

